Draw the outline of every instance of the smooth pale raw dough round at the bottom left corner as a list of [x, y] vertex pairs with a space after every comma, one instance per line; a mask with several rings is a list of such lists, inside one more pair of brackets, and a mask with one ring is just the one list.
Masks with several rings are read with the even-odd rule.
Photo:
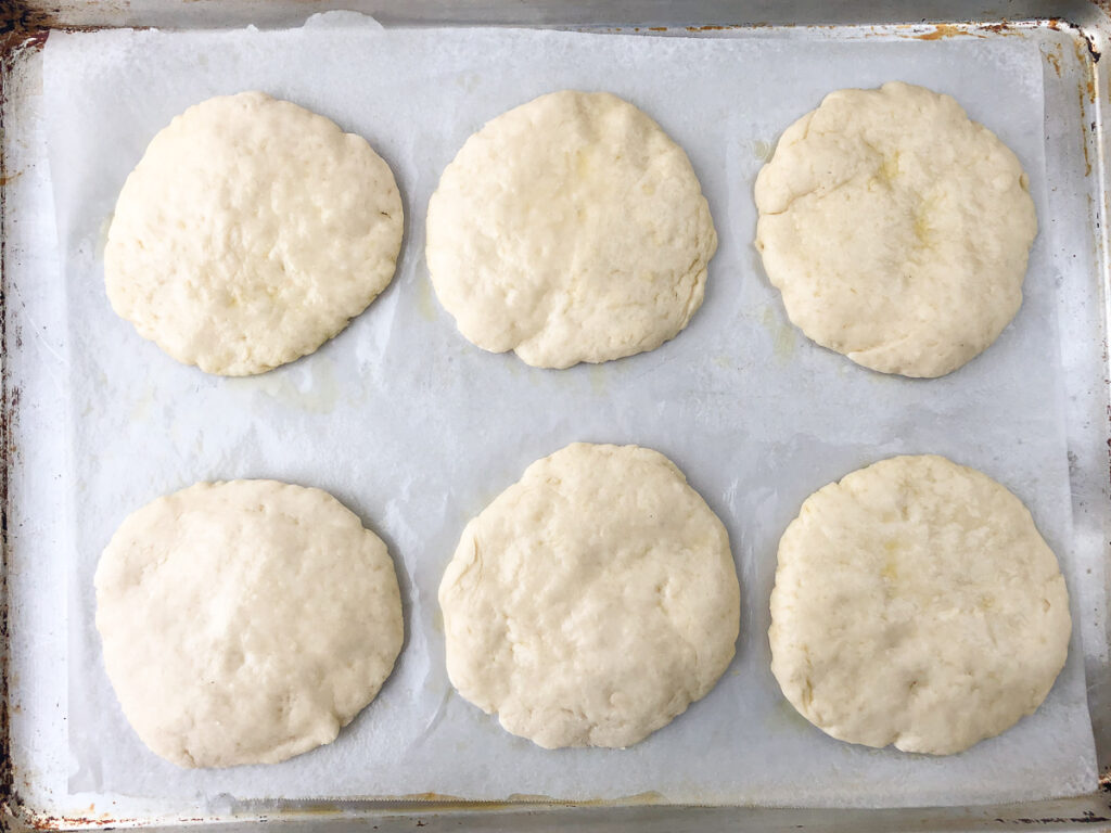
[[239, 480], [160, 498], [122, 523], [96, 585], [123, 713], [179, 766], [331, 742], [401, 650], [386, 544], [319, 489]]

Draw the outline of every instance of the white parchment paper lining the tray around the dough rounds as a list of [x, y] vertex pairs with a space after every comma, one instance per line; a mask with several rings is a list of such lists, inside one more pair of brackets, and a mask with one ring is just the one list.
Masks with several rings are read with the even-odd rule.
[[[751, 188], [783, 127], [839, 87], [899, 78], [951, 92], [1030, 173], [1043, 232], [1027, 300], [983, 357], [941, 380], [882, 377], [785, 322], [751, 245]], [[1049, 265], [1041, 63], [1021, 37], [830, 42], [512, 30], [383, 31], [328, 16], [296, 31], [52, 33], [46, 93], [70, 322], [73, 503], [70, 790], [218, 801], [546, 795], [760, 805], [941, 805], [1088, 792], [1094, 753], [1074, 630], [1045, 704], [947, 759], [825, 737], [768, 670], [779, 534], [814, 489], [900, 452], [989, 472], [1033, 511], [1075, 588], [1062, 373]], [[622, 94], [684, 147], [721, 238], [707, 300], [652, 353], [541, 371], [468, 344], [423, 263], [423, 212], [474, 129], [533, 96]], [[264, 377], [183, 368], [111, 313], [100, 249], [150, 137], [209, 96], [263, 89], [367, 137], [406, 201], [391, 288], [318, 353]], [[729, 529], [742, 581], [738, 656], [703, 701], [625, 751], [548, 752], [451, 691], [436, 586], [466, 521], [573, 440], [671, 456]], [[120, 520], [196, 480], [272, 476], [330, 490], [389, 543], [407, 643], [339, 740], [272, 767], [184, 772], [147, 752], [102, 670], [91, 576]], [[1074, 605], [1075, 608], [1075, 605]], [[1077, 615], [1074, 610], [1074, 616]]]

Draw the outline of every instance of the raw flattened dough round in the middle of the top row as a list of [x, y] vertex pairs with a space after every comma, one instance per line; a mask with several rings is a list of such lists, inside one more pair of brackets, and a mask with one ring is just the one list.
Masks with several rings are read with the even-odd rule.
[[553, 92], [493, 119], [428, 207], [432, 284], [460, 332], [540, 368], [674, 338], [717, 248], [682, 148], [604, 92]]

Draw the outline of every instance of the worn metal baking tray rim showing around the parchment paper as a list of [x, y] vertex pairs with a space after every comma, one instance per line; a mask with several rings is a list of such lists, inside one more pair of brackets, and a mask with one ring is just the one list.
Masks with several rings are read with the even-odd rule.
[[[1111, 87], [1108, 8], [1087, 2], [888, 2], [827, 4], [804, 0], [664, 0], [578, 2], [334, 2], [332, 0], [63, 0], [0, 2], [3, 46], [2, 134], [3, 321], [3, 583], [0, 583], [0, 827], [79, 829], [142, 825], [221, 829], [281, 821], [290, 830], [431, 829], [680, 831], [741, 830], [988, 830], [1013, 826], [1111, 830], [1111, 792], [1008, 806], [920, 811], [759, 810], [668, 806], [460, 806], [438, 802], [242, 805], [219, 799], [194, 806], [119, 795], [69, 795], [66, 734], [64, 559], [54, 520], [66, 484], [61, 441], [21, 442], [21, 425], [57, 428], [63, 435], [64, 298], [57, 280], [53, 213], [41, 140], [41, 33], [57, 27], [220, 27], [254, 22], [293, 26], [314, 11], [354, 8], [383, 22], [486, 22], [562, 27], [687, 27], [708, 37], [834, 39], [1033, 38], [1043, 54], [1045, 142], [1051, 217], [1064, 344], [1077, 545], [1108, 552], [1111, 541], [1111, 407], [1107, 332], [1111, 315], [1104, 218], [1109, 171], [1104, 141]], [[925, 22], [930, 21], [930, 22]], [[739, 28], [721, 29], [720, 27]], [[817, 27], [817, 28], [815, 28]], [[828, 28], [827, 28], [828, 27]], [[39, 33], [39, 37], [28, 36]], [[1111, 59], [1108, 59], [1111, 60]], [[1089, 704], [1105, 787], [1111, 786], [1111, 668], [1108, 575], [1079, 588]]]

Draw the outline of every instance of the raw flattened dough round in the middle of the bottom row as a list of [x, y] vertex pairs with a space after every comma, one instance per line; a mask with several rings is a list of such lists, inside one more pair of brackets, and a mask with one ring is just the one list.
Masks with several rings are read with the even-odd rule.
[[547, 749], [667, 725], [724, 673], [740, 626], [725, 528], [635, 445], [530, 465], [467, 525], [440, 605], [452, 684]]

